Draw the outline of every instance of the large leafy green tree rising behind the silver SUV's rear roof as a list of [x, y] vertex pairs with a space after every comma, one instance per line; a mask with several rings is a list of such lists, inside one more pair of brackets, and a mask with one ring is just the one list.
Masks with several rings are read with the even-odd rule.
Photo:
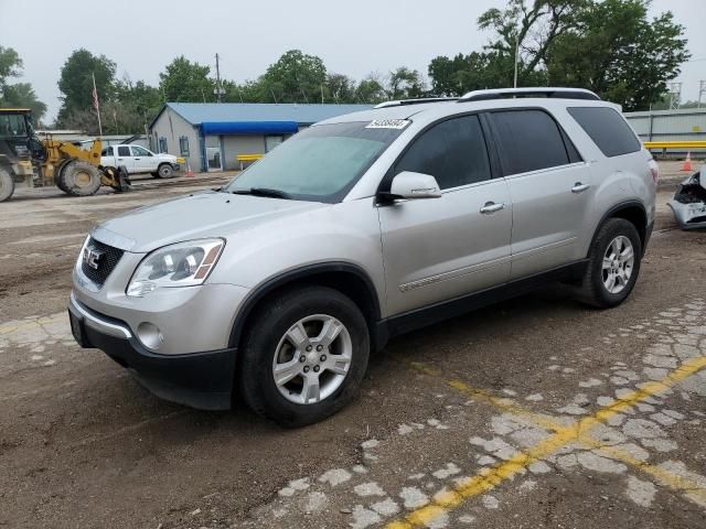
[[591, 89], [623, 109], [648, 109], [691, 54], [671, 12], [648, 20], [645, 0], [591, 2], [578, 25], [553, 44], [552, 84]]

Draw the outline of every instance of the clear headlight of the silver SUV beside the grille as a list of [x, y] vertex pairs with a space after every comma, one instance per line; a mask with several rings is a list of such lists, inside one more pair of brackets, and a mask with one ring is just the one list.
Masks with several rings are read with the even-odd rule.
[[202, 239], [154, 250], [137, 267], [127, 294], [141, 298], [160, 287], [201, 284], [215, 267], [224, 246], [223, 239]]

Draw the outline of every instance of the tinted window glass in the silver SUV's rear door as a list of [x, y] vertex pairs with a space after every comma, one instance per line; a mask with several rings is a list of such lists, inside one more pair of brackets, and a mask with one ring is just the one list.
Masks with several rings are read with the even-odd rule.
[[542, 110], [500, 111], [490, 114], [490, 120], [505, 175], [570, 162], [563, 133], [548, 114]]

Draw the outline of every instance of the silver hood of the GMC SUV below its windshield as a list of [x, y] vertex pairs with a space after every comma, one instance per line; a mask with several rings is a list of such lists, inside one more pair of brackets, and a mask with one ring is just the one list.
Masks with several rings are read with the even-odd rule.
[[315, 202], [205, 192], [128, 212], [98, 225], [92, 236], [122, 250], [141, 253], [184, 240], [227, 239], [280, 217], [325, 206]]

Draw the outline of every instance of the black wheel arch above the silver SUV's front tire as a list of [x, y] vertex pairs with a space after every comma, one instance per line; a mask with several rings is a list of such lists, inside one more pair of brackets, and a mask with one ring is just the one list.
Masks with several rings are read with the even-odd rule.
[[381, 306], [373, 280], [361, 267], [336, 261], [297, 268], [271, 278], [254, 289], [235, 317], [228, 346], [237, 347], [240, 344], [248, 320], [264, 302], [278, 292], [304, 285], [329, 287], [349, 296], [359, 306], [367, 322], [372, 347], [375, 348], [377, 344], [384, 343], [386, 336], [381, 336], [383, 334], [378, 324], [382, 319]]

